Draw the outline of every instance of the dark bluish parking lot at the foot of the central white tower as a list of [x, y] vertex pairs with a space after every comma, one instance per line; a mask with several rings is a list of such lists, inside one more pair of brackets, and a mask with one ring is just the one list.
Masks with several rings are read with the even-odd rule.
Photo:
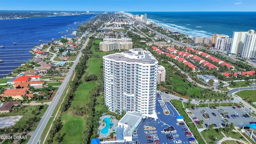
[[[179, 116], [179, 114], [172, 104], [170, 102], [163, 102], [160, 96], [158, 96], [156, 100], [156, 114], [158, 120], [147, 118], [143, 122], [140, 122], [136, 132], [133, 133], [133, 143], [189, 144], [190, 141], [197, 143], [194, 141], [194, 136], [190, 133], [186, 124], [177, 122], [176, 116]], [[166, 110], [170, 112], [170, 114], [164, 114]], [[147, 126], [154, 127], [155, 129], [145, 130]]]

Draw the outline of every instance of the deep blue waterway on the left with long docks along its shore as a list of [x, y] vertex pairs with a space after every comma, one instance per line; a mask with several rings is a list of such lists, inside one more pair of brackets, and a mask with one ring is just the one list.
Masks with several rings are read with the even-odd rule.
[[[52, 38], [60, 39], [65, 35], [74, 37], [72, 31], [95, 16], [96, 14], [84, 14], [0, 20], [0, 46], [4, 46], [0, 48], [0, 78], [30, 60], [33, 55], [29, 51], [35, 45], [50, 42]], [[14, 45], [14, 42], [17, 44]]]

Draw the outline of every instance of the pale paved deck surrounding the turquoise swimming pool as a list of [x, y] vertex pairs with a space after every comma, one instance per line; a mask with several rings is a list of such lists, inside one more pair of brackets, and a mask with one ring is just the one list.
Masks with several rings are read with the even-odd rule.
[[[112, 118], [111, 118], [112, 117]], [[111, 122], [114, 124], [112, 126], [112, 128], [109, 128], [108, 129], [108, 133], [107, 134], [102, 134], [100, 131], [106, 126], [106, 123], [105, 122], [102, 122], [102, 120], [104, 118], [111, 118]], [[112, 132], [116, 132], [116, 127], [118, 125], [118, 120], [116, 120], [116, 118], [114, 116], [111, 116], [111, 115], [104, 115], [102, 117], [100, 117], [100, 120], [99, 120], [99, 123], [100, 123], [100, 127], [98, 128], [98, 134], [100, 135], [100, 138], [107, 138], [108, 136], [110, 136], [110, 134]], [[103, 126], [104, 124], [104, 126]], [[115, 131], [113, 131], [115, 130]]]

